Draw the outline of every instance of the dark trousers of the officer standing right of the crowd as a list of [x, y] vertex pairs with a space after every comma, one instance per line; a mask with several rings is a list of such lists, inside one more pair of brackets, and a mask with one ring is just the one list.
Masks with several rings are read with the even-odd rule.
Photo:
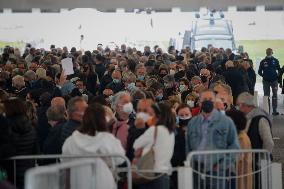
[[277, 112], [277, 91], [278, 91], [278, 81], [262, 81], [264, 96], [268, 96], [268, 104], [270, 111], [270, 87], [272, 89], [272, 109], [273, 112]]

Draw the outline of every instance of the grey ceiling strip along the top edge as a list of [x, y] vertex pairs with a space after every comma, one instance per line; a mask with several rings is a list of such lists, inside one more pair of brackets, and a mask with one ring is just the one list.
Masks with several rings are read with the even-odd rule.
[[41, 8], [51, 12], [60, 8], [96, 8], [103, 12], [110, 12], [117, 8], [123, 8], [126, 12], [151, 8], [167, 12], [174, 7], [180, 8], [181, 11], [198, 11], [200, 7], [226, 10], [229, 6], [250, 8], [258, 5], [283, 10], [284, 0], [0, 0], [1, 8], [16, 10]]

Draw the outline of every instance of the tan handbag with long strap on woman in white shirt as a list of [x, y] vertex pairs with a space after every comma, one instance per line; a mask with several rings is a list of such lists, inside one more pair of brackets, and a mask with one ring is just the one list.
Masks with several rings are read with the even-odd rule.
[[154, 142], [153, 145], [151, 146], [151, 149], [149, 150], [149, 152], [147, 152], [146, 154], [144, 154], [143, 156], [141, 156], [137, 163], [133, 163], [132, 164], [132, 181], [134, 184], [144, 184], [147, 182], [150, 182], [158, 177], [157, 174], [155, 173], [142, 173], [140, 172], [140, 170], [147, 170], [147, 171], [151, 171], [154, 169], [154, 165], [155, 165], [155, 152], [154, 152], [154, 146], [156, 144], [156, 139], [157, 139], [157, 133], [158, 129], [157, 127], [155, 127], [155, 131], [154, 131]]

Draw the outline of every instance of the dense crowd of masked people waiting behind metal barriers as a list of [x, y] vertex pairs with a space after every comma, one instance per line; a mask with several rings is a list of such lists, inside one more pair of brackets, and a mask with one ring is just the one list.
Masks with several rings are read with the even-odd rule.
[[[266, 55], [258, 73], [267, 96], [272, 87], [277, 115], [281, 68], [272, 49]], [[65, 74], [64, 58], [72, 58], [74, 74]], [[254, 104], [256, 73], [247, 53], [213, 46], [164, 52], [159, 46], [138, 51], [98, 45], [83, 52], [27, 45], [23, 54], [6, 47], [0, 70], [0, 172], [11, 183], [13, 167], [5, 159], [12, 156], [116, 153], [135, 164], [153, 150], [153, 170], [162, 176], [134, 188], [174, 189], [171, 168], [183, 166], [191, 151], [272, 152], [274, 146], [269, 114]], [[24, 172], [33, 165], [16, 166], [16, 184], [23, 188]], [[252, 188], [252, 181], [245, 183], [240, 188]]]

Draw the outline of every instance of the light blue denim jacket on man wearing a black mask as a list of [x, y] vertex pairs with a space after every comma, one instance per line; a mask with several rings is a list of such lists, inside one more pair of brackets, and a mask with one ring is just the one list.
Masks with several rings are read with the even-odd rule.
[[[238, 140], [237, 130], [233, 121], [223, 115], [217, 110], [213, 110], [210, 116], [210, 122], [207, 130], [207, 144], [204, 150], [226, 150], [226, 149], [240, 149], [240, 144]], [[202, 140], [202, 121], [203, 115], [198, 115], [194, 117], [187, 126], [187, 154], [191, 151], [198, 150], [198, 147]], [[206, 157], [204, 161], [207, 163], [213, 162], [213, 164], [218, 164], [219, 169], [226, 170], [230, 164], [235, 162], [236, 157], [229, 157], [225, 155], [212, 155]], [[209, 168], [209, 167], [208, 167]]]

